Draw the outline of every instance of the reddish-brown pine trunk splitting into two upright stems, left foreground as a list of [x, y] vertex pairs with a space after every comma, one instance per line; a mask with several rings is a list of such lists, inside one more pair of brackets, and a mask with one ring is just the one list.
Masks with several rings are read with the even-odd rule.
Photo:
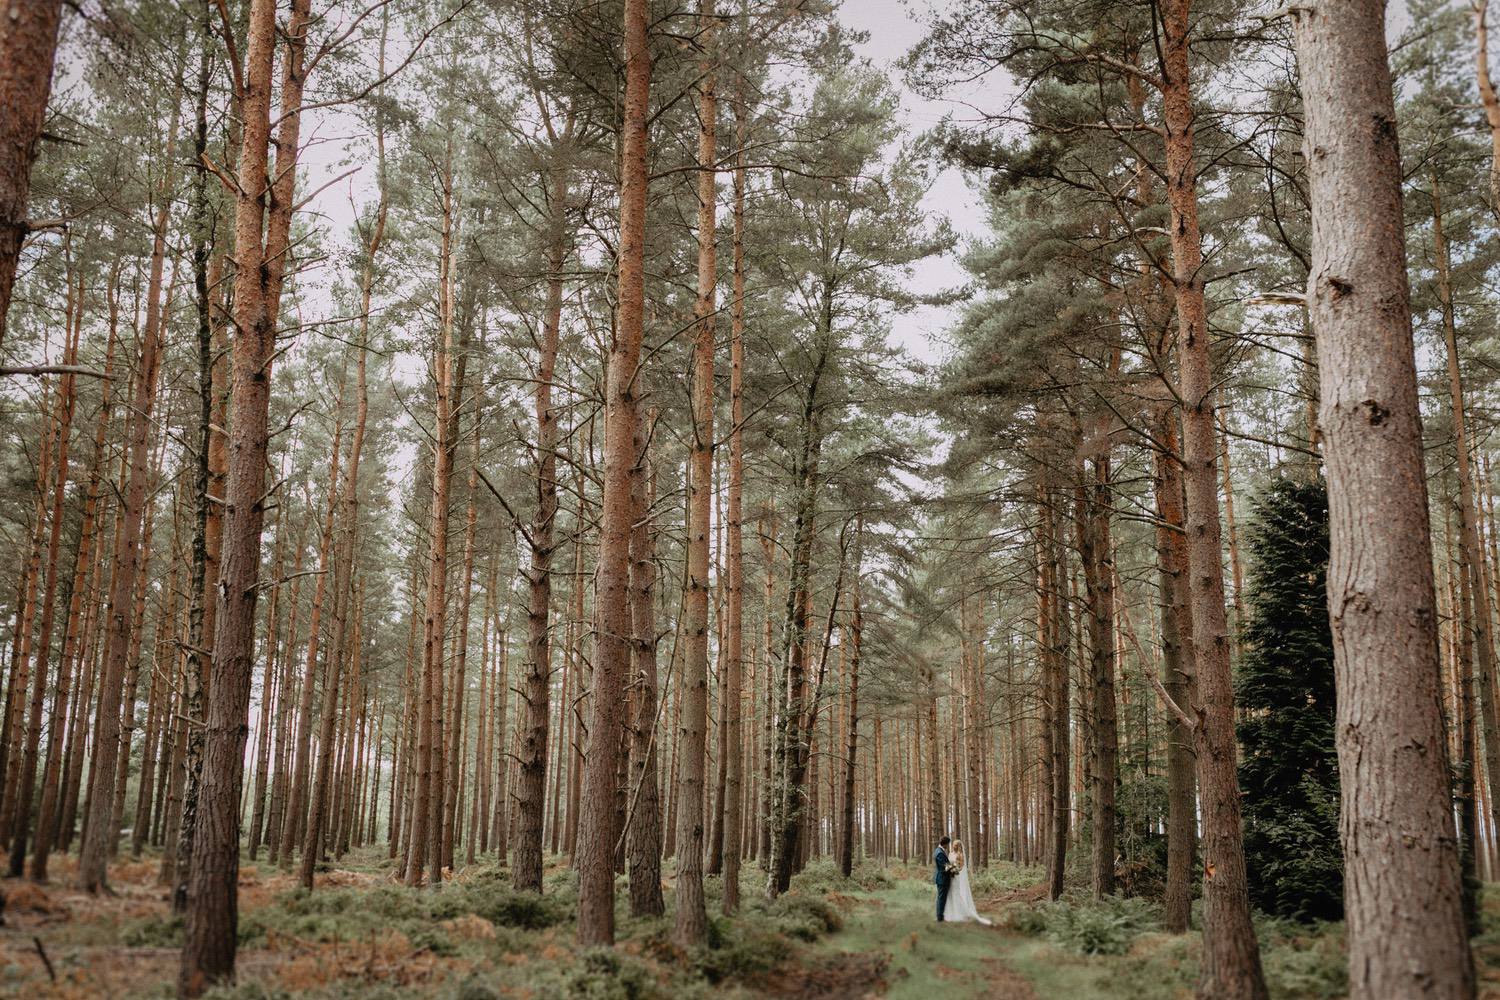
[[[255, 663], [261, 529], [266, 522], [266, 453], [276, 319], [296, 208], [298, 129], [310, 0], [292, 0], [282, 36], [280, 124], [274, 174], [267, 166], [276, 4], [252, 0], [243, 85], [237, 99], [243, 138], [234, 211], [234, 348], [230, 465], [225, 478], [224, 562], [219, 568], [213, 691], [204, 730], [202, 780], [188, 873], [188, 921], [177, 991], [201, 996], [234, 975], [238, 919], [240, 786]], [[268, 207], [262, 205], [268, 192]], [[262, 228], [264, 226], [264, 228]]]

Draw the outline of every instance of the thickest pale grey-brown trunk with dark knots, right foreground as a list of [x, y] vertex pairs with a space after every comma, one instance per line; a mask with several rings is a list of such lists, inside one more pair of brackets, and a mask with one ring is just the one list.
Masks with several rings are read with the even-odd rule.
[[1382, 0], [1298, 9], [1350, 996], [1472, 997]]

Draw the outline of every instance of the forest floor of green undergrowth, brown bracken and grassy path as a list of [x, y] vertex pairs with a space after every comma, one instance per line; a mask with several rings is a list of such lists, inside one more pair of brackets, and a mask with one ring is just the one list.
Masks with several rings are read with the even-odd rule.
[[[50, 886], [0, 882], [0, 996], [170, 997], [182, 922], [156, 883], [153, 858], [111, 867], [112, 897], [72, 888], [57, 858]], [[938, 925], [926, 868], [862, 865], [842, 879], [826, 862], [766, 904], [760, 871], [744, 873], [747, 904], [712, 921], [710, 945], [670, 945], [670, 916], [624, 916], [620, 948], [580, 951], [572, 873], [552, 864], [538, 900], [510, 891], [495, 865], [460, 870], [438, 892], [394, 883], [378, 853], [346, 858], [306, 894], [292, 876], [246, 862], [240, 876], [240, 979], [219, 1000], [648, 1000], [772, 997], [860, 1000], [966, 997], [1172, 1000], [1191, 996], [1198, 934], [1167, 934], [1143, 900], [1046, 903], [1036, 870], [975, 874], [994, 927]], [[717, 913], [718, 880], [708, 882]], [[670, 882], [668, 883], [670, 915]], [[1274, 997], [1342, 997], [1342, 928], [1257, 921]], [[1485, 900], [1474, 940], [1482, 994], [1500, 1000], [1500, 892]]]

